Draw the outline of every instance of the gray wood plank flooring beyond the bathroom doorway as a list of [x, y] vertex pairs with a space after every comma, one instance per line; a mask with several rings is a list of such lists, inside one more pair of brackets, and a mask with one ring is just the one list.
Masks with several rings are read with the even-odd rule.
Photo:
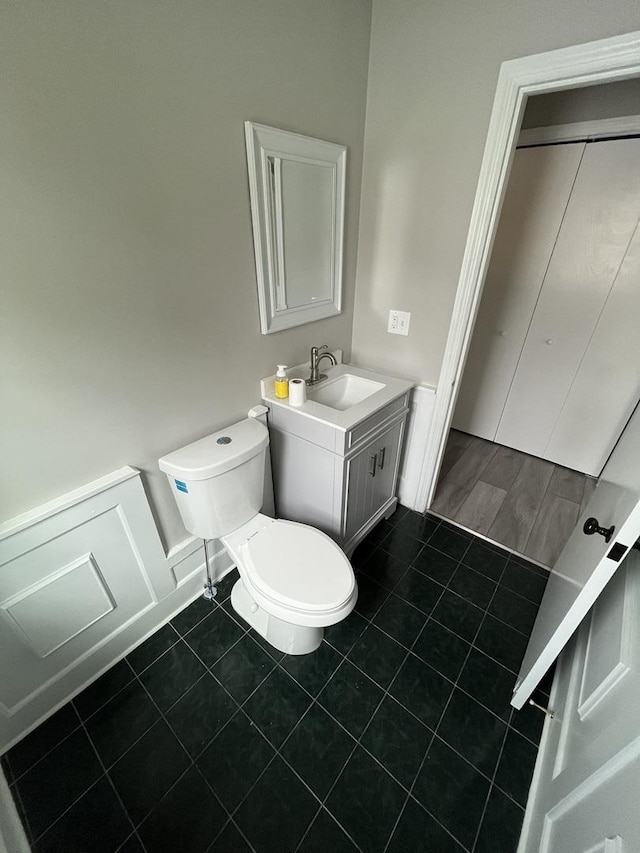
[[551, 567], [595, 483], [553, 462], [451, 430], [431, 509]]

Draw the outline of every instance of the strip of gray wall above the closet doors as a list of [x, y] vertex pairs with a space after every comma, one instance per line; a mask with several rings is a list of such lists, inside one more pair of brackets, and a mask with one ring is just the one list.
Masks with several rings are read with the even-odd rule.
[[640, 115], [640, 80], [621, 80], [529, 98], [522, 127]]

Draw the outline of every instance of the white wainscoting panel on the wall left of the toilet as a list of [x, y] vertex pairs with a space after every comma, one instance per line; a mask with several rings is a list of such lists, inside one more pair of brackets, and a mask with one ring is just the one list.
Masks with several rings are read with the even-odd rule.
[[[215, 544], [219, 579], [232, 563]], [[202, 542], [189, 537], [165, 554], [133, 468], [1, 525], [0, 753], [197, 597], [203, 581]]]

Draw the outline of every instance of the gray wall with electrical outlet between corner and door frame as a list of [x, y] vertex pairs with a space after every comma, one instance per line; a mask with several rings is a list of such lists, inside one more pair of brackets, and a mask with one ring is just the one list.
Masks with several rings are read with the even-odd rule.
[[357, 363], [438, 380], [500, 63], [638, 29], [637, 0], [374, 0]]

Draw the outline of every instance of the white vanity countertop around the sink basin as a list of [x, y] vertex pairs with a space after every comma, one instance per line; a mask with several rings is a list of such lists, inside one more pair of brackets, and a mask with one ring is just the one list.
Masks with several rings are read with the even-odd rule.
[[[327, 374], [326, 380], [318, 382], [314, 388], [321, 388], [325, 383], [330, 382], [344, 374], [349, 373], [352, 376], [360, 376], [363, 379], [370, 379], [373, 382], [384, 384], [384, 388], [375, 391], [369, 397], [366, 397], [360, 403], [356, 403], [349, 409], [334, 409], [331, 406], [325, 406], [322, 403], [316, 403], [314, 400], [307, 400], [302, 406], [292, 406], [289, 400], [281, 400], [275, 395], [274, 379], [275, 376], [269, 376], [260, 382], [262, 400], [269, 406], [280, 406], [285, 409], [290, 409], [292, 412], [297, 412], [301, 417], [310, 418], [314, 421], [321, 421], [325, 424], [330, 424], [340, 430], [348, 430], [354, 427], [360, 421], [365, 420], [386, 406], [397, 397], [406, 394], [415, 382], [410, 382], [407, 379], [398, 379], [395, 376], [387, 376], [384, 373], [378, 373], [377, 370], [366, 370], [364, 367], [356, 367], [353, 364], [337, 364], [335, 367], [327, 369], [326, 362], [321, 365], [322, 373]], [[299, 365], [287, 370], [289, 379], [306, 379], [309, 376], [309, 365]], [[309, 389], [307, 389], [309, 392]], [[311, 391], [313, 393], [313, 391]]]

